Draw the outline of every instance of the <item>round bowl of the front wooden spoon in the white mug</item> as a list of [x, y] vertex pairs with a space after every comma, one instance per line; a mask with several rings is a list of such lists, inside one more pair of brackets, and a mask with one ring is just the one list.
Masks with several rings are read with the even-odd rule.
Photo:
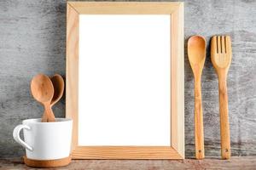
[[38, 74], [32, 78], [31, 92], [34, 99], [44, 105], [45, 103], [50, 102], [53, 98], [54, 87], [49, 77], [44, 74]]

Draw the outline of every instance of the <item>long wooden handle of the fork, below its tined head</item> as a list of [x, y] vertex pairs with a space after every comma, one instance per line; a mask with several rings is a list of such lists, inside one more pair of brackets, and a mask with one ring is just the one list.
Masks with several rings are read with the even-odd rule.
[[221, 156], [223, 159], [230, 159], [230, 122], [228, 89], [226, 77], [220, 77], [218, 80], [219, 90], [219, 117], [220, 117], [220, 136], [221, 136]]

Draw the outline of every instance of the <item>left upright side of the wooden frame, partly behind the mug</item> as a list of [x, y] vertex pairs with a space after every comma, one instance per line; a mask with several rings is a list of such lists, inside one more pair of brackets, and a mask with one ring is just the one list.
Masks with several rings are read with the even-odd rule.
[[79, 13], [67, 4], [66, 116], [73, 119], [72, 150], [78, 145], [79, 123]]

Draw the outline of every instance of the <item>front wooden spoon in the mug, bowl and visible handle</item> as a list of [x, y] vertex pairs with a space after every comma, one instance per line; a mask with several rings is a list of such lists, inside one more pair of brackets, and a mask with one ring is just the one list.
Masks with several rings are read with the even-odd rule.
[[51, 99], [54, 96], [54, 87], [49, 77], [44, 74], [38, 74], [33, 77], [31, 82], [31, 92], [34, 99], [44, 105], [45, 111], [42, 117], [42, 122], [55, 122], [55, 116], [50, 106]]

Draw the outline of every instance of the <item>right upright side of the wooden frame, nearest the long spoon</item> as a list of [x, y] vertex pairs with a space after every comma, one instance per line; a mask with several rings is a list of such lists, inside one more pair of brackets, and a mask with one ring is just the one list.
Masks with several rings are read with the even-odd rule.
[[[172, 32], [171, 39], [171, 145], [180, 153], [184, 153], [184, 116], [178, 115], [184, 113], [184, 54], [183, 54], [183, 3], [180, 3], [177, 10], [171, 15]], [[175, 42], [175, 43], [172, 43]], [[176, 43], [177, 42], [177, 43]], [[182, 50], [181, 50], [182, 49]]]

